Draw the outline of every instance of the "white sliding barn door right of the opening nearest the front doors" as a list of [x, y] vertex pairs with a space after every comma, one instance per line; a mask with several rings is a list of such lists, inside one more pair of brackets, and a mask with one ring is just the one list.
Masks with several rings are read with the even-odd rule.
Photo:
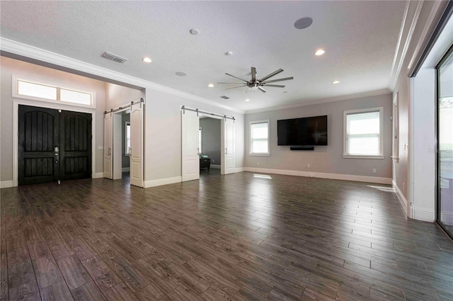
[[143, 187], [143, 110], [142, 103], [130, 110], [130, 184]]

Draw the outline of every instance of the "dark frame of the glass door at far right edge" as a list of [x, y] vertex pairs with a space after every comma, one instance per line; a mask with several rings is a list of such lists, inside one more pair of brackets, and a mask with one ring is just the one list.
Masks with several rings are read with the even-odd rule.
[[435, 76], [435, 85], [436, 85], [436, 105], [435, 105], [435, 140], [436, 140], [436, 148], [435, 148], [435, 153], [436, 153], [436, 166], [435, 166], [435, 174], [436, 174], [436, 201], [435, 201], [435, 212], [436, 212], [436, 223], [439, 225], [444, 232], [451, 238], [453, 239], [453, 233], [449, 232], [448, 229], [444, 225], [442, 225], [442, 205], [441, 205], [441, 191], [440, 191], [440, 152], [439, 152], [439, 96], [440, 96], [440, 67], [451, 57], [453, 56], [453, 45], [450, 45], [449, 49], [447, 52], [445, 52], [445, 55], [443, 55], [442, 59], [437, 63], [435, 70], [436, 70], [436, 76]]

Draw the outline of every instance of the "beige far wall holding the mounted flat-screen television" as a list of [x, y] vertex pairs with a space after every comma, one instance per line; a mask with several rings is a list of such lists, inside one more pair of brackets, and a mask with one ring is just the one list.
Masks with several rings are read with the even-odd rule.
[[[384, 159], [345, 159], [343, 158], [343, 110], [357, 108], [384, 107]], [[263, 113], [246, 115], [246, 167], [276, 169], [287, 171], [305, 171], [391, 178], [391, 93], [356, 98], [348, 101], [336, 101], [319, 105], [302, 106], [285, 110], [271, 110]], [[277, 146], [277, 120], [327, 115], [328, 145], [316, 146], [314, 151], [291, 151], [287, 146]], [[253, 120], [270, 120], [270, 156], [256, 157], [248, 155], [249, 127]], [[259, 164], [259, 165], [258, 165]], [[310, 168], [308, 167], [310, 165]], [[376, 169], [376, 173], [373, 173]]]

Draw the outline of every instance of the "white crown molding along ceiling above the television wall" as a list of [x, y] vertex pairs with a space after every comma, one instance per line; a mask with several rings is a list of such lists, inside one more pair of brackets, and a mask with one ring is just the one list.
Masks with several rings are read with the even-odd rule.
[[374, 91], [368, 91], [368, 92], [362, 92], [362, 93], [336, 96], [336, 97], [332, 97], [332, 98], [315, 99], [315, 100], [304, 101], [304, 102], [300, 102], [300, 103], [292, 103], [292, 104], [283, 105], [283, 106], [260, 108], [260, 109], [256, 109], [256, 110], [247, 110], [246, 115], [253, 114], [253, 113], [268, 112], [270, 110], [285, 110], [287, 108], [299, 108], [299, 107], [304, 107], [304, 106], [314, 106], [314, 105], [320, 105], [322, 103], [333, 103], [336, 101], [349, 101], [350, 99], [363, 98], [363, 97], [369, 97], [369, 96], [378, 96], [378, 95], [384, 95], [384, 94], [389, 94], [389, 93], [391, 93], [391, 91], [389, 89], [380, 89], [380, 90], [374, 90]]

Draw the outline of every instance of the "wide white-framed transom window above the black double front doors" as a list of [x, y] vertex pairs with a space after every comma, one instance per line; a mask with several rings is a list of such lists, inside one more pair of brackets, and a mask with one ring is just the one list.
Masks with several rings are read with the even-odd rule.
[[43, 84], [28, 79], [18, 79], [16, 76], [13, 76], [13, 83], [16, 83], [16, 89], [13, 89], [13, 96], [26, 96], [25, 98], [64, 101], [82, 106], [93, 106], [94, 93], [66, 89], [54, 84]]

